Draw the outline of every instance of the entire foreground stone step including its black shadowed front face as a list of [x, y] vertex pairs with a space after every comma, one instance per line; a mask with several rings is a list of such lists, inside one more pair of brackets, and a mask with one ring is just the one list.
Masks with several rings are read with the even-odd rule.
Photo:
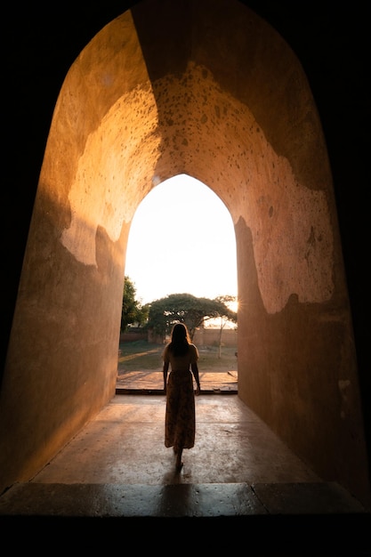
[[[187, 521], [180, 520], [187, 519]], [[0, 496], [12, 548], [53, 540], [58, 553], [159, 542], [194, 553], [245, 547], [249, 557], [366, 557], [370, 514], [336, 483], [19, 483]], [[15, 529], [14, 529], [15, 528]], [[98, 544], [98, 545], [97, 545]], [[165, 545], [165, 547], [162, 547]], [[168, 549], [174, 553], [174, 548]]]

